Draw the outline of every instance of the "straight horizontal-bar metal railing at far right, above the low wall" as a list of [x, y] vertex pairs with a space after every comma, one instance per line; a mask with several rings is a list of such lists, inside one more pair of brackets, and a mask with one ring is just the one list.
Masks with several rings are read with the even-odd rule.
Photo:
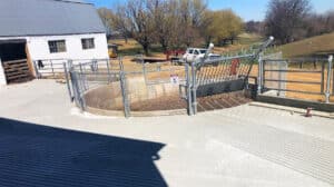
[[[268, 66], [275, 63], [276, 66]], [[282, 66], [284, 63], [284, 66]], [[324, 96], [330, 102], [334, 92], [333, 56], [324, 58], [259, 60], [258, 92], [276, 90]], [[277, 86], [273, 86], [273, 82]], [[282, 85], [287, 85], [285, 88]], [[303, 88], [306, 87], [306, 88]], [[310, 88], [307, 88], [310, 87]], [[311, 88], [312, 87], [312, 88]]]

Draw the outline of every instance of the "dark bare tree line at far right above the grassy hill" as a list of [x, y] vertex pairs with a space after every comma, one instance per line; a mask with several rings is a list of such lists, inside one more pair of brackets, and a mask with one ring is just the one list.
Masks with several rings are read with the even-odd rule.
[[274, 36], [281, 45], [334, 31], [334, 10], [315, 13], [310, 0], [271, 0], [264, 21], [248, 21], [245, 30]]

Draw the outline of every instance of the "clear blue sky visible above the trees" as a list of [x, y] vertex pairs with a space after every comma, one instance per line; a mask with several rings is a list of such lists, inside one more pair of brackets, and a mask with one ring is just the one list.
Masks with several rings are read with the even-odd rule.
[[[112, 8], [115, 4], [122, 3], [125, 0], [86, 0], [92, 2], [96, 7]], [[269, 0], [207, 0], [208, 7], [213, 10], [233, 9], [245, 21], [263, 20], [266, 13]], [[316, 12], [326, 12], [334, 10], [333, 0], [311, 0]]]

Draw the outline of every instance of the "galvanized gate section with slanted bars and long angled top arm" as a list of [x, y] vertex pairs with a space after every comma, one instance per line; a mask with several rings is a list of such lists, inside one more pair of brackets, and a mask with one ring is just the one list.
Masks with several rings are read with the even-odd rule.
[[255, 53], [207, 57], [185, 63], [186, 82], [179, 89], [181, 97], [188, 102], [189, 115], [197, 114], [197, 98], [243, 90], [247, 86], [253, 65], [273, 40], [271, 37]]

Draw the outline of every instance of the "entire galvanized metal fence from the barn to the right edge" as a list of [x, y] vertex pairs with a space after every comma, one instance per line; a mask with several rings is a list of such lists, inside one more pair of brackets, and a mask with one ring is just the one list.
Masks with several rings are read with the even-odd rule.
[[[135, 56], [114, 60], [37, 60], [33, 65], [39, 78], [65, 78], [70, 100], [82, 111], [101, 115], [121, 111], [130, 117], [137, 111], [153, 110], [187, 110], [188, 115], [196, 115], [203, 98], [247, 89], [249, 73], [257, 62], [255, 79], [258, 80], [254, 83], [258, 85], [255, 86], [258, 94], [275, 91], [279, 97], [310, 94], [325, 96], [330, 102], [334, 92], [332, 59], [286, 60], [282, 59], [282, 52], [262, 56], [272, 41], [271, 38], [252, 53], [191, 62], [145, 62], [143, 56]], [[313, 90], [305, 86], [313, 86]], [[215, 108], [214, 105], [224, 107], [216, 101], [209, 107]], [[199, 106], [205, 110], [204, 105]]]

